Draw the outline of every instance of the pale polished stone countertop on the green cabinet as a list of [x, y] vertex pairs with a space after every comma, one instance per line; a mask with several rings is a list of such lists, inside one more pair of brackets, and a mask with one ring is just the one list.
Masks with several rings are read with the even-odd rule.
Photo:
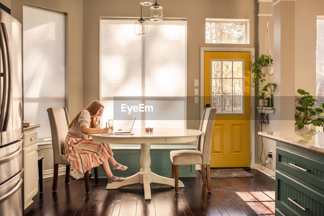
[[258, 132], [258, 135], [324, 155], [324, 132]]

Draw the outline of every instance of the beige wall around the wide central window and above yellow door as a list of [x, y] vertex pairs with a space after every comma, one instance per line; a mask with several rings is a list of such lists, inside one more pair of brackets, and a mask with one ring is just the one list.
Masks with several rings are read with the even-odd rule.
[[[187, 18], [187, 96], [193, 96], [194, 79], [200, 79], [200, 47], [256, 47], [257, 7], [255, 0], [165, 0], [159, 2], [164, 17]], [[99, 19], [100, 17], [139, 17], [139, 1], [83, 1], [83, 106], [99, 99]], [[149, 6], [143, 6], [143, 17]], [[205, 44], [205, 18], [250, 19], [250, 44]], [[196, 87], [197, 88], [197, 87]], [[199, 92], [200, 95], [203, 93]], [[187, 103], [187, 118], [200, 119], [199, 104]], [[200, 120], [187, 122], [198, 129]]]

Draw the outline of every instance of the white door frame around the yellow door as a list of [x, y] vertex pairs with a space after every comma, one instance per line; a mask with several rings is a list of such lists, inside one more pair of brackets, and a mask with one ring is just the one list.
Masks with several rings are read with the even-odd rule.
[[[200, 92], [202, 97], [200, 97], [200, 117], [203, 117], [203, 109], [204, 109], [204, 59], [205, 52], [249, 52], [250, 53], [250, 61], [251, 65], [254, 63], [255, 51], [254, 48], [236, 48], [236, 47], [200, 47]], [[255, 154], [255, 126], [254, 126], [254, 88], [253, 79], [252, 79], [252, 67], [250, 67], [250, 168], [254, 169], [254, 154]]]

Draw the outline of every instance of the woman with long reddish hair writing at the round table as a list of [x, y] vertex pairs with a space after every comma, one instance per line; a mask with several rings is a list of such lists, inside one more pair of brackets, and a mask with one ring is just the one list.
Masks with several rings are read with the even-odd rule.
[[111, 164], [111, 169], [126, 170], [127, 166], [120, 165], [114, 160], [109, 143], [94, 142], [87, 136], [91, 133], [108, 132], [108, 128], [101, 128], [97, 122], [102, 116], [103, 109], [104, 106], [99, 101], [94, 101], [76, 115], [69, 125], [63, 153], [70, 165], [81, 173], [101, 165], [108, 177], [108, 183], [112, 183], [125, 178], [113, 176], [108, 162]]

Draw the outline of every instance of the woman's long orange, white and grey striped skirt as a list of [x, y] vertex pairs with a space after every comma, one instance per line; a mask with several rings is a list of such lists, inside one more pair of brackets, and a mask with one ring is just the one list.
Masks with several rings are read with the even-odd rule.
[[85, 136], [67, 133], [63, 153], [71, 166], [81, 173], [97, 167], [113, 155], [109, 143], [86, 140]]

